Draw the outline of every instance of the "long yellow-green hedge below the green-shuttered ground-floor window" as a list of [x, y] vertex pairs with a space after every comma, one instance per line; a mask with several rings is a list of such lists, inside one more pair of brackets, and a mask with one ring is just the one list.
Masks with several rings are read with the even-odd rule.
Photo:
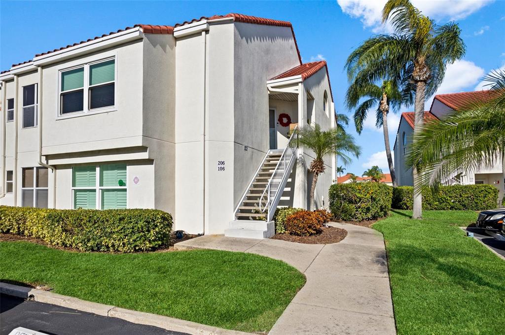
[[0, 206], [0, 232], [82, 251], [131, 253], [170, 242], [172, 216], [158, 210], [51, 210]]

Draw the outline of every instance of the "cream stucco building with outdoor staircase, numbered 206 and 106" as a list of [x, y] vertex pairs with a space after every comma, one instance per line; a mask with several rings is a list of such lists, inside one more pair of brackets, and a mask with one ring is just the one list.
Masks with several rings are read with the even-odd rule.
[[[188, 233], [223, 233], [279, 201], [306, 208], [311, 152], [277, 161], [296, 123], [335, 127], [326, 62], [301, 63], [291, 23], [239, 14], [135, 25], [0, 80], [0, 204], [158, 208]], [[326, 163], [318, 206], [335, 179]]]

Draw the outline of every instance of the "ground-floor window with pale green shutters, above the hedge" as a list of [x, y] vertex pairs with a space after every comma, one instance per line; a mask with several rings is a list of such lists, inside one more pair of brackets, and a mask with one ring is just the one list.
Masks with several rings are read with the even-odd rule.
[[126, 208], [126, 164], [74, 166], [72, 196], [74, 208]]

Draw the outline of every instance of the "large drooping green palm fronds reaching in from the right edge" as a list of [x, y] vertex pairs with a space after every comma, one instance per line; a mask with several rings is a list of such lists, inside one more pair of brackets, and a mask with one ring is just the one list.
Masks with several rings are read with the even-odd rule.
[[487, 99], [426, 123], [414, 134], [407, 164], [422, 169], [423, 188], [444, 182], [462, 166], [477, 170], [497, 159], [504, 163], [505, 70], [491, 72], [484, 80], [491, 87]]

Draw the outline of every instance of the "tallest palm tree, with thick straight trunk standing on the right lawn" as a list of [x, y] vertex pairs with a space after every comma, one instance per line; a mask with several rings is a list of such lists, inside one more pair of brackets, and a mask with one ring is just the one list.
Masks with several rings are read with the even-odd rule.
[[[347, 72], [376, 82], [401, 73], [404, 97], [415, 94], [414, 133], [424, 123], [426, 95], [435, 93], [445, 74], [445, 67], [461, 59], [465, 44], [461, 29], [453, 22], [437, 25], [424, 16], [410, 0], [388, 0], [382, 12], [383, 22], [390, 21], [392, 35], [377, 35], [366, 40], [347, 58]], [[421, 178], [418, 165], [414, 175], [413, 218], [422, 218]]]

